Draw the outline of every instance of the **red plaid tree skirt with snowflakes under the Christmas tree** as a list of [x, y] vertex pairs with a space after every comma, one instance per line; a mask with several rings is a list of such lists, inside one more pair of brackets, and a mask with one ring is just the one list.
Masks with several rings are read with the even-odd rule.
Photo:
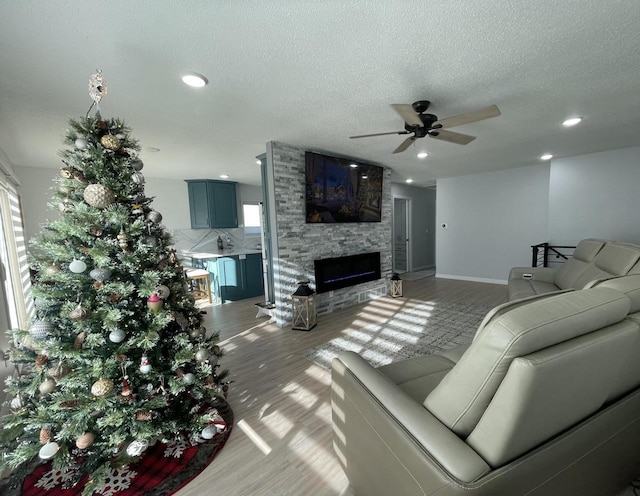
[[[168, 443], [156, 443], [134, 465], [116, 467], [107, 485], [94, 493], [100, 496], [166, 496], [177, 492], [194, 479], [226, 443], [233, 425], [233, 412], [228, 404], [217, 406], [224, 419], [224, 430], [210, 441], [192, 446], [184, 438]], [[53, 470], [51, 463], [38, 465], [24, 479], [22, 491], [0, 485], [0, 493], [21, 496], [75, 496], [82, 492], [86, 477], [77, 486], [66, 488], [73, 474]], [[7, 491], [7, 492], [5, 492]]]

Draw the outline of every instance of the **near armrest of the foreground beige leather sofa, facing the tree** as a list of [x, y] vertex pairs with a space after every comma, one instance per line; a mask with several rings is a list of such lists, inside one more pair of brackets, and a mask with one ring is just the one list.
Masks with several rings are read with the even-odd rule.
[[[472, 482], [490, 471], [462, 439], [360, 355], [342, 353], [332, 365], [336, 450], [342, 444], [348, 453], [359, 453], [357, 459], [343, 460], [350, 480], [359, 463], [369, 470], [381, 459], [390, 460], [389, 454], [402, 460], [425, 494], [431, 494], [425, 487], [430, 483], [435, 490], [454, 481]], [[354, 448], [364, 440], [370, 449], [364, 442], [361, 451]]]

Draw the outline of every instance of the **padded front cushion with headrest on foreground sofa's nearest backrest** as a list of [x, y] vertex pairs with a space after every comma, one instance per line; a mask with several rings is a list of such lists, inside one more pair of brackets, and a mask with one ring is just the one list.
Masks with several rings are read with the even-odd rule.
[[468, 436], [514, 358], [622, 320], [629, 298], [610, 288], [572, 291], [533, 301], [499, 316], [424, 401], [460, 436]]

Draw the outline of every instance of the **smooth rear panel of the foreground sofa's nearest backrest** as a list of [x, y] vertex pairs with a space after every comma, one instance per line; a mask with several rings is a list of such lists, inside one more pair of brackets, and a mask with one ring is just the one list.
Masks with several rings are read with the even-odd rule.
[[595, 413], [639, 334], [625, 319], [514, 359], [467, 443], [497, 468]]

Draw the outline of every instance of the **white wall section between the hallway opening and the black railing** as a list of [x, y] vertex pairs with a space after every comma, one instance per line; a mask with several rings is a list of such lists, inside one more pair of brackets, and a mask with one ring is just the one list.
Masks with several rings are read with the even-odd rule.
[[547, 239], [548, 197], [547, 164], [439, 180], [437, 277], [504, 283], [530, 265], [531, 245]]

